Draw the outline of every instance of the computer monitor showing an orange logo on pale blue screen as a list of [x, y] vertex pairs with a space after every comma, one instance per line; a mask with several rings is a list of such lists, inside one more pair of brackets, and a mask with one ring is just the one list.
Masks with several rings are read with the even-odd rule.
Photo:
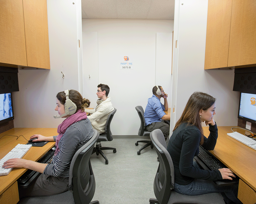
[[256, 123], [256, 94], [240, 93], [238, 118]]

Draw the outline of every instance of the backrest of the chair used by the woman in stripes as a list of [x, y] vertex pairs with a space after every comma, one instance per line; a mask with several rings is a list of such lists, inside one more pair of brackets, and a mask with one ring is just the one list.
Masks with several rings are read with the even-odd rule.
[[[99, 137], [93, 129], [92, 138], [74, 155], [69, 172], [69, 190], [73, 189], [75, 203], [90, 203], [95, 192], [95, 179], [91, 167], [90, 156], [94, 144]], [[71, 170], [72, 169], [72, 170]]]

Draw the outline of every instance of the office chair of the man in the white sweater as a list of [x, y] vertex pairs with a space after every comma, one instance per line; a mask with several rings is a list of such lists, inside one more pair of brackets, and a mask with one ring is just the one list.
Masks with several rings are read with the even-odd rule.
[[115, 112], [116, 112], [116, 109], [114, 108], [114, 110], [109, 114], [108, 119], [106, 121], [106, 125], [105, 125], [105, 132], [100, 134], [100, 136], [99, 136], [99, 138], [97, 140], [97, 143], [96, 143], [96, 147], [94, 147], [93, 151], [92, 151], [92, 154], [94, 154], [95, 152], [96, 152], [96, 155], [101, 154], [101, 156], [104, 157], [104, 159], [105, 159], [105, 164], [108, 164], [109, 161], [106, 158], [106, 156], [104, 155], [102, 150], [113, 149], [113, 152], [116, 153], [116, 148], [113, 148], [113, 147], [101, 147], [101, 143], [100, 142], [102, 142], [102, 141], [112, 141], [113, 140], [112, 133], [110, 131], [110, 123], [111, 123], [111, 120], [112, 120]]

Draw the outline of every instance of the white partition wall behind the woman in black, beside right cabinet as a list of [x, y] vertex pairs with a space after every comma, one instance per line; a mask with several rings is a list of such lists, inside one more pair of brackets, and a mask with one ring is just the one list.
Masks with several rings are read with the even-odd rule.
[[[183, 5], [182, 5], [183, 4]], [[204, 70], [208, 1], [175, 1], [174, 70], [172, 126], [180, 118], [190, 95], [195, 91], [215, 97], [218, 126], [237, 125], [239, 93], [232, 91], [234, 70]]]

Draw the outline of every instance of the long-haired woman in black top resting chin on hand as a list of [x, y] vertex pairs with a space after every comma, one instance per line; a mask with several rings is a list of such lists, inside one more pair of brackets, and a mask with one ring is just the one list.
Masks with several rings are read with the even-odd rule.
[[[215, 98], [201, 92], [193, 93], [177, 121], [170, 137], [167, 151], [173, 160], [175, 183], [174, 190], [185, 195], [201, 195], [220, 192], [226, 203], [241, 203], [237, 198], [237, 185], [216, 186], [214, 180], [236, 177], [228, 168], [202, 170], [193, 162], [199, 153], [199, 145], [213, 150], [218, 137], [217, 125], [213, 119]], [[209, 125], [210, 135], [206, 138], [202, 122]]]

